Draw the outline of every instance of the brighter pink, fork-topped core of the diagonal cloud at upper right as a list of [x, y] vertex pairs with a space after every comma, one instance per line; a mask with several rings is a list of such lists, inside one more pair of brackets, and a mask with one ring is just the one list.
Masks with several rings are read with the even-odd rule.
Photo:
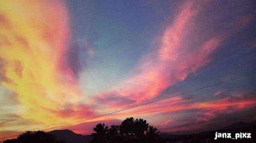
[[[210, 63], [222, 40], [219, 35], [204, 40], [199, 38], [202, 35], [193, 35], [194, 19], [203, 5], [185, 2], [173, 24], [164, 31], [157, 51], [144, 57], [130, 78], [111, 88], [110, 92], [102, 93], [98, 100], [114, 96], [134, 101], [123, 106], [138, 104], [158, 96], [167, 87]], [[188, 35], [198, 39], [191, 41]]]

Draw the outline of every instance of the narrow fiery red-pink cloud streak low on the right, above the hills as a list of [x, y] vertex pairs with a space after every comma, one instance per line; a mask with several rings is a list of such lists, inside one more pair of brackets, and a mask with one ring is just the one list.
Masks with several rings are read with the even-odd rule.
[[[256, 98], [248, 97], [248, 93], [232, 94], [230, 97], [216, 99], [205, 102], [190, 102], [181, 97], [171, 98], [170, 100], [162, 100], [156, 104], [148, 104], [144, 107], [126, 110], [111, 115], [111, 118], [120, 118], [128, 116], [146, 116], [161, 113], [184, 112], [187, 110], [196, 110], [195, 118], [200, 120], [210, 120], [215, 118], [218, 114], [231, 114], [238, 111], [248, 110], [256, 105]], [[144, 110], [146, 108], [146, 110]], [[110, 118], [110, 117], [109, 117]]]

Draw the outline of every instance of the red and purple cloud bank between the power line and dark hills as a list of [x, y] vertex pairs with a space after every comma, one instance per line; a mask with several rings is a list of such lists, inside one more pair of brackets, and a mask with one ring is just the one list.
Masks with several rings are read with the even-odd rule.
[[[97, 123], [104, 122], [108, 123], [108, 125], [119, 125], [127, 117], [134, 117], [146, 119], [162, 132], [191, 133], [193, 131], [206, 131], [207, 129], [224, 127], [227, 120], [238, 113], [252, 117], [253, 114], [251, 114], [250, 110], [255, 108], [255, 93], [249, 92], [237, 92], [225, 98], [196, 102], [177, 96], [170, 100], [162, 100], [154, 104], [103, 116], [95, 121], [72, 125], [68, 128], [72, 128], [79, 133], [88, 134]], [[113, 119], [119, 119], [119, 121], [112, 121]], [[220, 123], [220, 120], [225, 122]], [[241, 120], [237, 119], [236, 121]], [[89, 127], [89, 129], [84, 127]], [[62, 129], [66, 129], [66, 127]]]

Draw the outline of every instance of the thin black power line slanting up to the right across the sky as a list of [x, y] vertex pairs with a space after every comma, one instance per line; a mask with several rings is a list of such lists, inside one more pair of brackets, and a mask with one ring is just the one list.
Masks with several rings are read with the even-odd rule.
[[[96, 117], [93, 117], [93, 118], [83, 119], [83, 120], [81, 120], [81, 121], [76, 121], [76, 122], [68, 123], [68, 124], [65, 124], [65, 125], [59, 125], [59, 126], [56, 126], [56, 127], [50, 127], [50, 128], [47, 128], [47, 129], [42, 129], [41, 131], [45, 131], [45, 130], [48, 130], [48, 129], [54, 129], [54, 128], [62, 127], [62, 126], [66, 126], [66, 125], [71, 125], [71, 124], [74, 124], [74, 123], [79, 123], [79, 122], [82, 122], [82, 121], [87, 121], [87, 120], [90, 120], [90, 119], [99, 118], [99, 117], [102, 117], [102, 116], [107, 116], [107, 115], [114, 114], [114, 113], [117, 113], [117, 112], [122, 112], [122, 111], [129, 110], [129, 109], [132, 109], [132, 108], [144, 106], [144, 105], [147, 105], [147, 104], [151, 104], [151, 103], [154, 103], [154, 102], [158, 102], [158, 101], [161, 101], [161, 100], [165, 100], [165, 99], [168, 99], [168, 98], [172, 98], [172, 97], [175, 97], [175, 96], [179, 96], [179, 95], [182, 95], [182, 94], [187, 94], [187, 93], [190, 93], [190, 92], [194, 92], [194, 91], [197, 91], [197, 90], [201, 90], [201, 89], [204, 89], [204, 88], [208, 88], [208, 87], [211, 87], [211, 86], [215, 86], [215, 85], [218, 85], [218, 84], [222, 84], [222, 83], [224, 83], [224, 82], [229, 82], [229, 81], [231, 81], [231, 80], [235, 80], [235, 79], [238, 79], [238, 78], [242, 78], [242, 77], [244, 77], [244, 76], [248, 76], [248, 75], [255, 74], [255, 73], [256, 73], [256, 72], [251, 72], [251, 73], [249, 73], [249, 74], [245, 74], [245, 75], [242, 75], [242, 76], [238, 76], [238, 77], [236, 77], [236, 78], [232, 78], [232, 79], [229, 79], [229, 80], [225, 80], [225, 81], [223, 81], [223, 82], [219, 82], [219, 83], [216, 83], [216, 84], [211, 84], [211, 85], [209, 85], [209, 86], [204, 86], [204, 87], [202, 87], [202, 88], [197, 88], [197, 89], [195, 89], [195, 90], [190, 90], [190, 91], [188, 91], [188, 92], [183, 92], [183, 93], [180, 93], [180, 94], [176, 94], [176, 95], [174, 95], [174, 96], [169, 96], [169, 97], [162, 98], [162, 99], [159, 99], [159, 100], [154, 100], [154, 101], [152, 101], [152, 102], [140, 104], [140, 105], [133, 106], [133, 107], [130, 107], [130, 108], [126, 108], [126, 109], [123, 109], [123, 110], [118, 110], [118, 111], [115, 111], [115, 112], [110, 112], [110, 113], [108, 113], [108, 114], [96, 116]], [[8, 137], [16, 137], [16, 136], [18, 136], [18, 135], [12, 135], [12, 136], [8, 136]], [[4, 139], [4, 138], [8, 138], [8, 137], [1, 137], [0, 139]]]

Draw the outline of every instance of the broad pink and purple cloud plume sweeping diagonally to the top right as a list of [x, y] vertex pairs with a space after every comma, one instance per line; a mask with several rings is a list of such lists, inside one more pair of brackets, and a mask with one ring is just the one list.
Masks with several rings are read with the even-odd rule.
[[[137, 105], [155, 98], [210, 63], [225, 39], [252, 20], [252, 14], [248, 14], [228, 23], [221, 22], [209, 12], [211, 4], [214, 5], [211, 2], [184, 2], [172, 24], [166, 27], [160, 46], [142, 58], [130, 78], [94, 100], [116, 103], [110, 104], [107, 110]], [[219, 14], [218, 18], [223, 17], [225, 14]]]

